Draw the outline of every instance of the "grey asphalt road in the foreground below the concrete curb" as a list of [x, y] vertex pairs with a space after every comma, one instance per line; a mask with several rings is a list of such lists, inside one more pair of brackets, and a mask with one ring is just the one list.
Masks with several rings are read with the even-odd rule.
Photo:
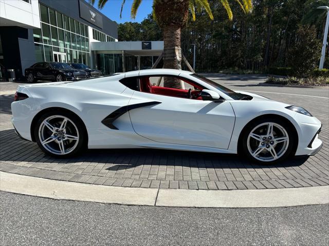
[[328, 245], [328, 205], [119, 206], [0, 192], [1, 245]]

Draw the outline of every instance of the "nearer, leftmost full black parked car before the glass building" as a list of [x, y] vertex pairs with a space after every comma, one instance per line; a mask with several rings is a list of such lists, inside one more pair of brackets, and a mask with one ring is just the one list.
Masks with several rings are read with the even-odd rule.
[[38, 80], [66, 81], [84, 79], [87, 77], [87, 73], [73, 69], [66, 63], [43, 62], [33, 64], [25, 69], [25, 77], [30, 83]]

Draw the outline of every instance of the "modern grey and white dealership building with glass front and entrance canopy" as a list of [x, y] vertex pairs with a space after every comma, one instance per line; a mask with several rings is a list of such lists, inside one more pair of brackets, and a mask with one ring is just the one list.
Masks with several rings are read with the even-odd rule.
[[8, 69], [23, 78], [39, 61], [129, 71], [152, 66], [162, 50], [163, 42], [118, 42], [117, 23], [84, 0], [0, 0], [0, 79]]

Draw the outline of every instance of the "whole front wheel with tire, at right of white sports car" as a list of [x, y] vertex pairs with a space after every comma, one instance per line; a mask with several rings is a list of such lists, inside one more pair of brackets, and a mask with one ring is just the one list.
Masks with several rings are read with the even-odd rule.
[[271, 164], [291, 155], [295, 140], [293, 129], [284, 120], [260, 119], [244, 130], [242, 152], [255, 162]]

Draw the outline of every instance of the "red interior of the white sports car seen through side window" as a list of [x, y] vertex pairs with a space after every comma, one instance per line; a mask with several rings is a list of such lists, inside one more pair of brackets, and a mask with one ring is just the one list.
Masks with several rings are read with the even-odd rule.
[[[197, 85], [193, 85], [190, 81], [186, 81], [186, 83], [194, 86], [198, 90], [202, 90], [203, 88], [199, 88]], [[168, 87], [160, 87], [160, 86], [151, 86], [150, 78], [149, 77], [141, 77], [140, 78], [140, 91], [159, 94], [164, 96], [175, 96], [175, 97], [182, 97], [186, 98], [188, 94], [188, 90], [183, 89], [175, 89], [175, 88], [168, 88]], [[192, 94], [197, 95], [199, 91], [192, 91]], [[194, 98], [197, 100], [202, 100], [201, 97]]]

